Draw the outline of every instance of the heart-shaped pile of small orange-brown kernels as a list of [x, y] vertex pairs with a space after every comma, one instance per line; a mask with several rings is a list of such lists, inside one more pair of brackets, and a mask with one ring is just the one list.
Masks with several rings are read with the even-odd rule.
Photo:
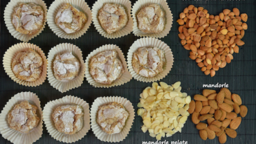
[[[233, 53], [239, 53], [238, 46], [247, 30], [248, 16], [240, 15], [237, 8], [231, 12], [223, 10], [219, 15], [210, 15], [203, 7], [193, 5], [185, 8], [179, 15], [179, 37], [185, 49], [191, 50], [190, 58], [197, 62], [205, 75], [215, 75], [233, 60]], [[244, 22], [242, 22], [242, 21]]]

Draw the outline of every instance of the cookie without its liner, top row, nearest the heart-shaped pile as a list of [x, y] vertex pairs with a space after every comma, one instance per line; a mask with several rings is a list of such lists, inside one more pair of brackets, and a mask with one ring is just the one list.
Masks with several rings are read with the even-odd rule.
[[158, 4], [142, 8], [137, 18], [138, 28], [144, 33], [160, 33], [165, 27], [165, 12]]

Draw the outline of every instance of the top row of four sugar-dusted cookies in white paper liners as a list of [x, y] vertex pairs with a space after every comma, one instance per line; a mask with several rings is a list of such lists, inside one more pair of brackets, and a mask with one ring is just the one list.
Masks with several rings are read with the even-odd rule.
[[91, 21], [102, 36], [110, 39], [131, 31], [140, 37], [162, 38], [171, 30], [173, 21], [164, 0], [138, 0], [132, 9], [129, 0], [98, 0], [92, 10], [83, 0], [55, 0], [48, 12], [42, 0], [11, 0], [4, 10], [4, 20], [11, 35], [24, 42], [42, 33], [46, 21], [53, 33], [65, 39], [84, 35]]

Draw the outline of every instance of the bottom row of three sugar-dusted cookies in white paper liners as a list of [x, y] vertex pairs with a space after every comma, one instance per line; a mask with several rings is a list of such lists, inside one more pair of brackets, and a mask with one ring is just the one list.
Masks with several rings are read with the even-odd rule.
[[86, 101], [75, 96], [50, 101], [42, 110], [35, 93], [21, 92], [1, 111], [0, 132], [12, 143], [34, 143], [42, 137], [44, 120], [57, 141], [74, 143], [92, 129], [100, 141], [119, 142], [129, 134], [134, 116], [131, 102], [118, 96], [96, 98], [91, 111]]

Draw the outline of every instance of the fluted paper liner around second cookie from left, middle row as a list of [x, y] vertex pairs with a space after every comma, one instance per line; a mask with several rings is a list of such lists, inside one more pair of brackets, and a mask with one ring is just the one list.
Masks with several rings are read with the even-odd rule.
[[[55, 60], [55, 57], [57, 55], [61, 55], [67, 52], [72, 52], [72, 55], [74, 55], [77, 58], [77, 60], [80, 61], [81, 67], [77, 77], [75, 77], [73, 80], [68, 80], [67, 82], [63, 82], [63, 81], [57, 80], [54, 76], [53, 61]], [[69, 91], [70, 89], [75, 89], [76, 87], [80, 87], [82, 85], [82, 82], [84, 81], [85, 65], [82, 57], [82, 51], [80, 50], [80, 48], [78, 48], [73, 44], [67, 44], [67, 43], [58, 44], [57, 46], [54, 46], [53, 48], [51, 48], [51, 50], [48, 53], [47, 60], [48, 60], [47, 78], [51, 86], [53, 86], [55, 89], [64, 93], [66, 91]]]

